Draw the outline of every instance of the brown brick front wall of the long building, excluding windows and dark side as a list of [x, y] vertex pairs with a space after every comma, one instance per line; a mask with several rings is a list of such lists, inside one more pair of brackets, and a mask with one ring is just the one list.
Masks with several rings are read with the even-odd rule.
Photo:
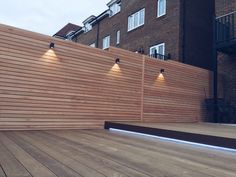
[[[145, 25], [127, 32], [128, 16], [145, 8]], [[125, 9], [125, 10], [124, 10]], [[144, 48], [149, 54], [153, 45], [166, 44], [166, 54], [180, 59], [180, 1], [167, 0], [167, 14], [157, 18], [157, 0], [123, 0], [121, 12], [113, 17], [105, 18], [100, 22], [99, 48], [102, 48], [102, 39], [111, 36], [111, 46], [121, 47], [130, 51]], [[116, 45], [116, 32], [121, 31], [121, 42]], [[88, 33], [81, 34], [76, 41], [89, 45], [96, 41], [97, 25]]]

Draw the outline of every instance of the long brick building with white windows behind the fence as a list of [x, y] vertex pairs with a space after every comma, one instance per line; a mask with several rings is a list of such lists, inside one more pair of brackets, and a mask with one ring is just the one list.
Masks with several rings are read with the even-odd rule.
[[107, 5], [70, 38], [212, 69], [214, 0], [112, 0]]

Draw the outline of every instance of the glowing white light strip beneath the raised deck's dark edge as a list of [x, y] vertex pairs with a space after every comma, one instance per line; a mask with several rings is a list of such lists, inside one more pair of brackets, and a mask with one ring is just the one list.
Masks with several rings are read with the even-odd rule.
[[109, 130], [123, 132], [123, 133], [129, 133], [129, 134], [134, 134], [134, 135], [147, 136], [147, 137], [157, 138], [157, 139], [161, 139], [161, 140], [165, 140], [165, 141], [171, 141], [171, 142], [189, 144], [189, 145], [194, 145], [194, 146], [206, 147], [206, 148], [216, 149], [216, 150], [221, 150], [221, 151], [236, 152], [236, 149], [224, 148], [224, 147], [220, 147], [220, 146], [212, 146], [212, 145], [207, 145], [207, 144], [194, 143], [194, 142], [189, 142], [189, 141], [184, 141], [184, 140], [177, 140], [177, 139], [173, 139], [173, 138], [166, 138], [166, 137], [149, 135], [149, 134], [144, 134], [144, 133], [131, 132], [131, 131], [120, 130], [120, 129], [115, 129], [115, 128], [110, 128]]

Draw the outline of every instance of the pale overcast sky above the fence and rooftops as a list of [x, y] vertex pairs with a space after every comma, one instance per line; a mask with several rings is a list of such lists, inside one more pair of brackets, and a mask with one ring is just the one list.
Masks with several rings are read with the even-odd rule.
[[82, 25], [107, 9], [109, 0], [3, 0], [0, 23], [53, 35], [67, 23]]

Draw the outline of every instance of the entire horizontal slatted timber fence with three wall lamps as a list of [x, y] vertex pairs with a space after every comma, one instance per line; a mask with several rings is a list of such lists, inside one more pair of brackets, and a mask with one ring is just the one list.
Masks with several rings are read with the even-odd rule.
[[[155, 86], [162, 65], [167, 82]], [[0, 25], [0, 130], [101, 128], [105, 120], [200, 120], [209, 80], [203, 69]]]

